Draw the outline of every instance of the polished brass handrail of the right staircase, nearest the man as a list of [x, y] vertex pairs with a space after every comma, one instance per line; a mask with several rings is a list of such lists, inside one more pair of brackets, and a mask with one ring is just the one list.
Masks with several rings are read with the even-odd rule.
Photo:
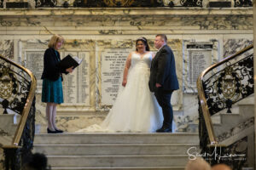
[[216, 139], [216, 136], [215, 136], [213, 128], [212, 128], [212, 120], [211, 120], [211, 116], [210, 116], [210, 111], [209, 111], [209, 108], [207, 105], [207, 98], [205, 96], [204, 88], [203, 88], [203, 78], [209, 71], [212, 71], [214, 68], [218, 67], [219, 65], [222, 65], [222, 64], [230, 61], [230, 59], [236, 58], [240, 54], [243, 54], [247, 50], [252, 49], [252, 48], [253, 48], [253, 45], [250, 45], [247, 48], [241, 49], [236, 54], [230, 55], [230, 56], [220, 60], [218, 63], [211, 65], [206, 70], [202, 71], [200, 76], [197, 79], [196, 86], [197, 86], [197, 90], [198, 90], [199, 103], [201, 105], [201, 111], [203, 113], [203, 118], [206, 123], [207, 133], [208, 133], [208, 137], [210, 140], [210, 145], [216, 145], [216, 144], [218, 144], [218, 141]]

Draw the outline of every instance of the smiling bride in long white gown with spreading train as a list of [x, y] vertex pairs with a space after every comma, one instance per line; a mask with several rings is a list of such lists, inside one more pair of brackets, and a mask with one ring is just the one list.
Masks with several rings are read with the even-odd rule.
[[163, 116], [154, 94], [148, 88], [152, 58], [147, 39], [138, 38], [136, 51], [126, 59], [123, 88], [119, 90], [108, 116], [100, 126], [92, 125], [77, 132], [152, 133], [159, 129]]

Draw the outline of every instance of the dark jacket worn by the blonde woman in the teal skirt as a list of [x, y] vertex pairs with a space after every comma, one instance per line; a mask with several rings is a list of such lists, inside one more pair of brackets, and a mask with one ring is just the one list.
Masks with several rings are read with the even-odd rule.
[[61, 80], [63, 80], [61, 73], [67, 74], [67, 72], [58, 67], [60, 60], [61, 57], [58, 51], [56, 56], [54, 48], [46, 49], [44, 52], [44, 71], [41, 79], [47, 78], [51, 81], [56, 81], [61, 77]]

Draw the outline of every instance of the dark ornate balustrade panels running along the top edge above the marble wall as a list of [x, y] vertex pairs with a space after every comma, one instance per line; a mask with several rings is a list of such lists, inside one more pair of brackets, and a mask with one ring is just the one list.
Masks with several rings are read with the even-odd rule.
[[[132, 8], [132, 7], [201, 7], [203, 8], [203, 1], [207, 3], [206, 8], [231, 8], [231, 1], [214, 1], [209, 0], [179, 0], [177, 2], [170, 1], [165, 4], [163, 0], [74, 0], [73, 4], [69, 4], [67, 0], [64, 3], [58, 4], [57, 0], [35, 0], [35, 7], [82, 7], [82, 8]], [[234, 7], [252, 7], [253, 0], [232, 0]], [[3, 8], [3, 0], [0, 0], [0, 8]], [[6, 8], [29, 8], [27, 2], [7, 2]]]

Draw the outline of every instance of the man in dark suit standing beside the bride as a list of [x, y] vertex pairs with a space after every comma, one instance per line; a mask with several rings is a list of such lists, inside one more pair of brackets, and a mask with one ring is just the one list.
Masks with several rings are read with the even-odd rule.
[[164, 122], [157, 133], [172, 133], [173, 111], [171, 105], [172, 92], [178, 89], [175, 59], [172, 49], [167, 46], [165, 34], [158, 34], [154, 39], [154, 47], [158, 49], [152, 59], [149, 77], [149, 89], [162, 108]]

